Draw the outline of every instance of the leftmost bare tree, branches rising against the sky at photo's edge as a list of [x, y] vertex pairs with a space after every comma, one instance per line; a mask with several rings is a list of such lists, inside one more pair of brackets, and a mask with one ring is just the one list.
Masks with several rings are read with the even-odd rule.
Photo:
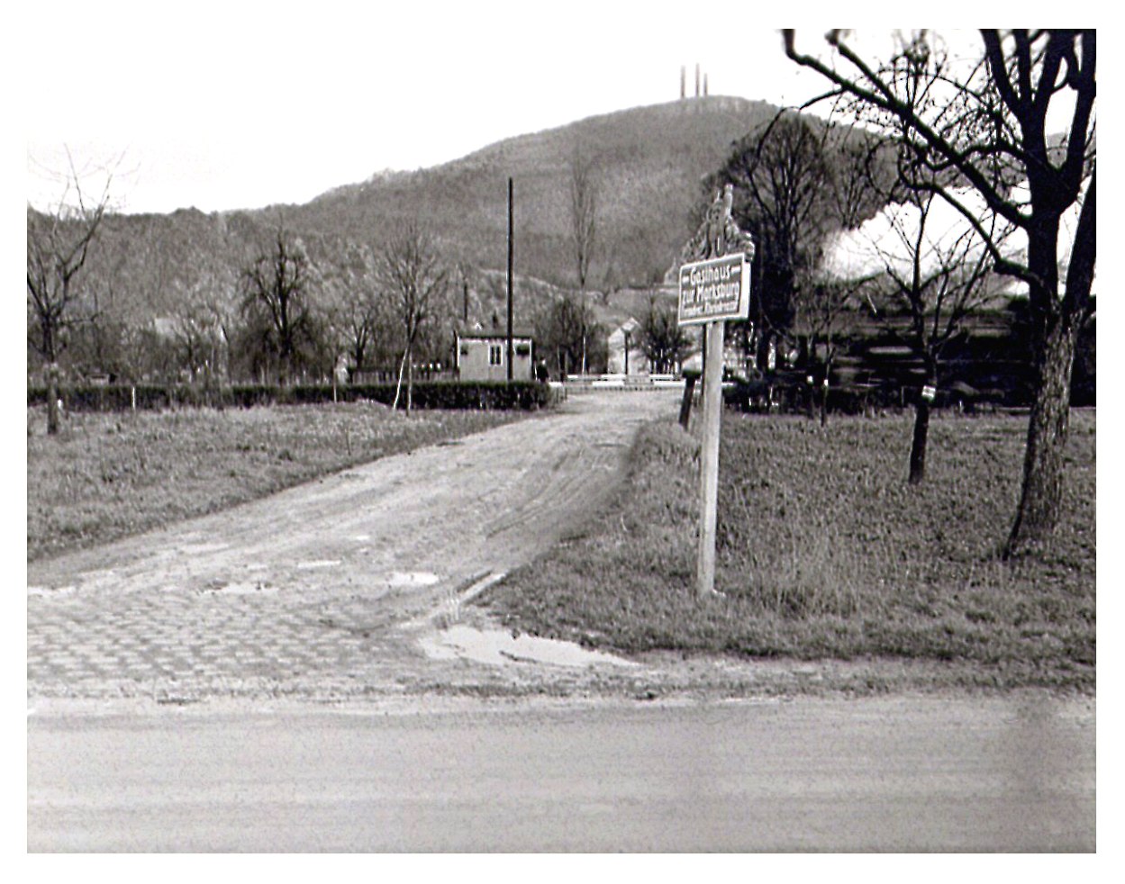
[[91, 202], [72, 163], [63, 196], [48, 213], [27, 207], [28, 341], [46, 364], [48, 434], [58, 432], [58, 357], [82, 296], [79, 274], [109, 206], [109, 180]]

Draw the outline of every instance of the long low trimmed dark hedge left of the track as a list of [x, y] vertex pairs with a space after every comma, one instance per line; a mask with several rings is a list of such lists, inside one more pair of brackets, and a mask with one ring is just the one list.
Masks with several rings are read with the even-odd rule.
[[[278, 387], [261, 384], [202, 388], [190, 385], [127, 384], [71, 387], [63, 386], [60, 395], [72, 412], [123, 412], [133, 407], [134, 390], [140, 409], [181, 407], [251, 408], [255, 405], [312, 405], [333, 402], [331, 385]], [[28, 387], [29, 407], [45, 405], [46, 387]], [[390, 405], [395, 400], [394, 384], [341, 385], [335, 400], [343, 403], [377, 402]], [[399, 397], [404, 407], [406, 389]], [[412, 406], [422, 409], [451, 411], [534, 411], [557, 402], [557, 394], [546, 384], [536, 381], [416, 381]]]

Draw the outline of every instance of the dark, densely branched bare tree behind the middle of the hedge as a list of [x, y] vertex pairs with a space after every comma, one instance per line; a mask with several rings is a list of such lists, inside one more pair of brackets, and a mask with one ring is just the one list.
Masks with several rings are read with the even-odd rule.
[[[278, 227], [273, 243], [243, 268], [243, 313], [261, 323], [261, 344], [277, 357], [278, 381], [288, 384], [300, 348], [312, 337], [310, 267], [299, 242]], [[256, 316], [255, 316], [256, 315]]]

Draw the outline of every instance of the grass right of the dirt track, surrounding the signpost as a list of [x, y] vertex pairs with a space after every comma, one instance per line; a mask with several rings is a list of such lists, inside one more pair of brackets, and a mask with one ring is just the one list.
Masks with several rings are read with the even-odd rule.
[[515, 629], [623, 651], [950, 660], [979, 685], [1092, 689], [1095, 415], [1072, 415], [1051, 549], [1004, 563], [1025, 432], [1023, 417], [936, 416], [927, 480], [911, 488], [909, 415], [821, 430], [727, 413], [723, 595], [699, 601], [698, 442], [651, 425], [612, 511], [478, 604]]

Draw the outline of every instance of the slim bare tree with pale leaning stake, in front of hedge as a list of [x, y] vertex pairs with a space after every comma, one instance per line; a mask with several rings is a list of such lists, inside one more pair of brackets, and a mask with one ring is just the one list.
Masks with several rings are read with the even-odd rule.
[[450, 273], [433, 237], [416, 223], [405, 226], [379, 256], [379, 277], [397, 318], [403, 350], [395, 388], [395, 408], [406, 380], [406, 411], [413, 404], [414, 349], [429, 323], [446, 309]]

